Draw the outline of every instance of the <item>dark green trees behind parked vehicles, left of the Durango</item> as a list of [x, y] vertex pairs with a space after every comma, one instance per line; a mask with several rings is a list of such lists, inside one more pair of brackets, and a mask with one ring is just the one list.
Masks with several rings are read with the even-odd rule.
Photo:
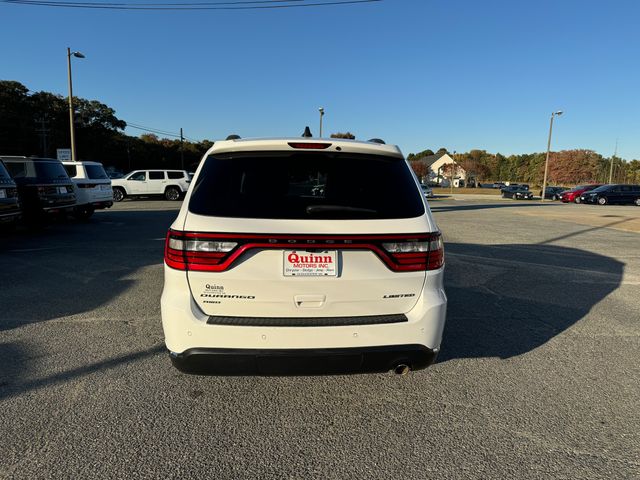
[[[138, 168], [194, 169], [213, 142], [126, 135], [124, 120], [97, 101], [73, 97], [79, 160], [101, 162], [124, 172]], [[0, 80], [0, 155], [56, 157], [70, 148], [68, 97], [30, 93], [20, 82]]]

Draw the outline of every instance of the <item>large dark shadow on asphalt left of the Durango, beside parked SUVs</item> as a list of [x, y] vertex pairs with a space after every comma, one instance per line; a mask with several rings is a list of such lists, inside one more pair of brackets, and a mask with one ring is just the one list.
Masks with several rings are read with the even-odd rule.
[[132, 285], [129, 275], [163, 262], [164, 237], [176, 215], [175, 210], [98, 213], [85, 224], [1, 237], [0, 332], [111, 301]]

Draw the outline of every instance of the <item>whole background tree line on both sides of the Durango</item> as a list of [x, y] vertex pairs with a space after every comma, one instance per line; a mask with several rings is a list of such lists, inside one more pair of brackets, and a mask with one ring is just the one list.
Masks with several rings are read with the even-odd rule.
[[[30, 93], [20, 82], [0, 80], [0, 155], [55, 157], [57, 148], [69, 148], [68, 98], [50, 92]], [[153, 133], [126, 135], [127, 123], [115, 110], [97, 100], [74, 97], [76, 150], [80, 160], [94, 160], [121, 171], [138, 168], [194, 169], [213, 142], [159, 138]], [[333, 138], [355, 138], [351, 132]], [[427, 176], [424, 157], [449, 153], [445, 147], [410, 153], [407, 159], [418, 176]], [[467, 175], [478, 182], [518, 181], [542, 184], [545, 153], [505, 156], [485, 150], [451, 154]], [[592, 150], [552, 152], [550, 185], [606, 183], [613, 163], [613, 181], [640, 183], [640, 160], [605, 158]]]

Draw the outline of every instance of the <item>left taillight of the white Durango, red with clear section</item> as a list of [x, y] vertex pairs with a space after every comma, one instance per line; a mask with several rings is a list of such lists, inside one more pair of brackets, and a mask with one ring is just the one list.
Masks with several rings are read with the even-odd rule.
[[236, 245], [236, 242], [169, 230], [165, 242], [164, 260], [169, 267], [176, 270], [219, 270], [218, 265]]

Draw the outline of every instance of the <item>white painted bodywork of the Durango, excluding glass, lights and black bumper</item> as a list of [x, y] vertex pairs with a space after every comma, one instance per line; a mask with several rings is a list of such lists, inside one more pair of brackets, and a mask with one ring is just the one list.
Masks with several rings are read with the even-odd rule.
[[[205, 154], [238, 151], [285, 150], [278, 140], [220, 141]], [[318, 141], [314, 139], [313, 141]], [[332, 149], [402, 158], [395, 146], [325, 139]], [[194, 183], [204, 162], [196, 171]], [[409, 168], [407, 166], [407, 168]], [[425, 213], [393, 220], [283, 220], [227, 218], [196, 215], [188, 210], [187, 193], [171, 228], [176, 231], [252, 234], [408, 234], [437, 232], [438, 228], [415, 179], [416, 194]], [[181, 271], [165, 264], [161, 299], [162, 324], [167, 348], [182, 353], [191, 348], [318, 349], [419, 344], [438, 350], [445, 323], [447, 298], [444, 268], [394, 272], [373, 252], [340, 250], [340, 271], [335, 277], [283, 275], [284, 250], [245, 253], [233, 268], [223, 272]], [[247, 298], [215, 299], [216, 288], [226, 295]], [[398, 298], [385, 295], [409, 294]], [[217, 303], [217, 302], [220, 303]], [[346, 317], [405, 314], [408, 322], [378, 325], [323, 327], [258, 327], [210, 325], [210, 315], [237, 317]]]

